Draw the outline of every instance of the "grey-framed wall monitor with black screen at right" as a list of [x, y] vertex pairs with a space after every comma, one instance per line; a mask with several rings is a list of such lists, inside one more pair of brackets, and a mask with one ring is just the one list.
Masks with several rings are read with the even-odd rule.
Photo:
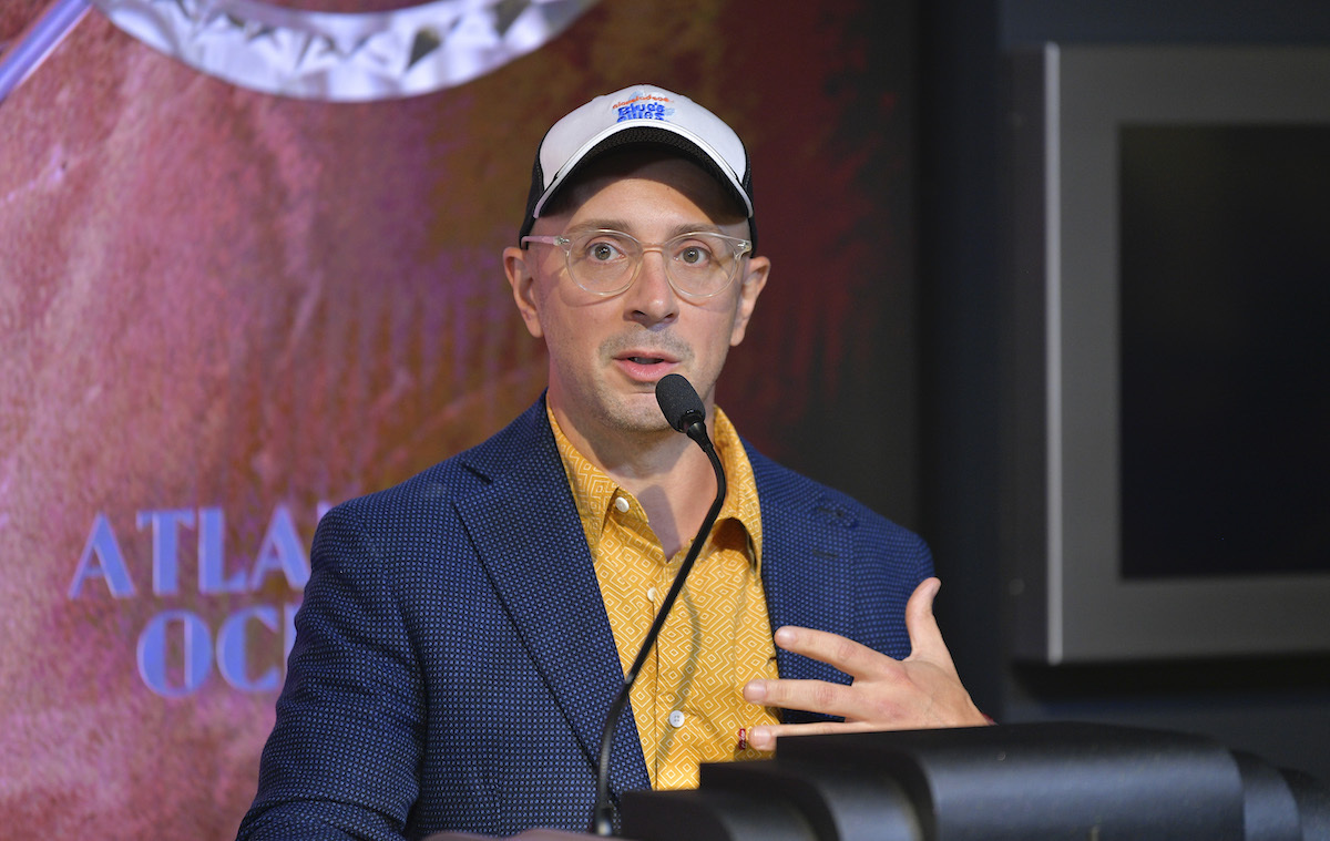
[[1015, 651], [1330, 651], [1330, 49], [1012, 59]]

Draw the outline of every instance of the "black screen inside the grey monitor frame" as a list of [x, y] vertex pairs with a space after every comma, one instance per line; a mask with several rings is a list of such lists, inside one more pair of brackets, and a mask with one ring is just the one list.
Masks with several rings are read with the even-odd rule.
[[1330, 571], [1330, 126], [1120, 160], [1124, 578]]

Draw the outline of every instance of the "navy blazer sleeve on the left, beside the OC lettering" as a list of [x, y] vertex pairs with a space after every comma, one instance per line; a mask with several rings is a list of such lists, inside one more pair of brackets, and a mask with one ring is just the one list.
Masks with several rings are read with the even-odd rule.
[[424, 691], [400, 600], [355, 510], [321, 520], [258, 794], [238, 841], [400, 841]]

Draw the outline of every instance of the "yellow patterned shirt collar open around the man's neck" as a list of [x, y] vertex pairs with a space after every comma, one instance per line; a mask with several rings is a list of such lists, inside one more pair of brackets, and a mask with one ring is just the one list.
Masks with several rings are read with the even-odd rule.
[[[595, 556], [610, 506], [618, 496], [629, 496], [629, 494], [573, 447], [564, 431], [559, 428], [559, 420], [555, 419], [555, 413], [549, 409], [548, 402], [545, 403], [545, 417], [549, 419], [549, 428], [555, 432], [555, 443], [559, 446], [559, 458], [564, 463], [564, 472], [572, 487], [577, 516], [581, 519], [583, 530], [587, 532]], [[757, 498], [757, 479], [753, 476], [753, 464], [749, 462], [738, 431], [720, 406], [716, 407], [716, 440], [713, 443], [721, 466], [725, 468], [728, 484], [725, 503], [721, 506], [720, 516], [716, 518], [716, 528], [720, 530], [726, 520], [734, 520], [741, 526], [751, 546], [751, 560], [761, 570], [762, 510]]]

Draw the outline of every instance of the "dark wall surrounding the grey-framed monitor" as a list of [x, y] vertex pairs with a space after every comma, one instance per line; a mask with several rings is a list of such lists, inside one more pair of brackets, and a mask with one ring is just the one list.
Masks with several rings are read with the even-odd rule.
[[[922, 522], [938, 615], [980, 707], [1213, 736], [1330, 780], [1330, 656], [1017, 665], [1004, 637], [1012, 494], [1003, 61], [1063, 44], [1330, 44], [1330, 4], [932, 0], [919, 12]], [[1327, 608], [1330, 612], [1330, 608]]]

